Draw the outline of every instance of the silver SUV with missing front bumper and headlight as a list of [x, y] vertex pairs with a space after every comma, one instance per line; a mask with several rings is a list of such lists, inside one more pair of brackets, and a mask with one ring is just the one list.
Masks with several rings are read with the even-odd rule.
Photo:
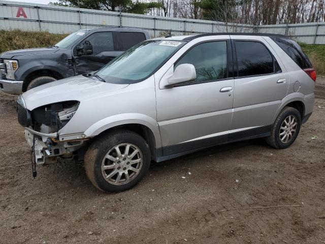
[[290, 146], [313, 110], [316, 73], [279, 35], [144, 41], [97, 72], [19, 96], [32, 165], [84, 162], [102, 191], [135, 186], [151, 161], [265, 137]]

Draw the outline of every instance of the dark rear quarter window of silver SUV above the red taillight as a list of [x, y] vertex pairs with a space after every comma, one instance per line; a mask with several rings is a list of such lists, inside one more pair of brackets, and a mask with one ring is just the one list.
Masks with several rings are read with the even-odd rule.
[[285, 53], [288, 54], [301, 69], [312, 68], [307, 55], [303, 52], [298, 43], [287, 38], [272, 37], [271, 39], [275, 41], [276, 44], [278, 44], [279, 47], [281, 47], [282, 50], [285, 51]]

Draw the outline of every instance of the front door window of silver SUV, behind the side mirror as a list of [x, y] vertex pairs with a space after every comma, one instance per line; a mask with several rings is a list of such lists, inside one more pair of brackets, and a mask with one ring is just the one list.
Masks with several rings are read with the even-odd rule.
[[227, 43], [206, 42], [194, 46], [174, 65], [174, 69], [181, 64], [192, 64], [195, 67], [195, 82], [227, 78]]

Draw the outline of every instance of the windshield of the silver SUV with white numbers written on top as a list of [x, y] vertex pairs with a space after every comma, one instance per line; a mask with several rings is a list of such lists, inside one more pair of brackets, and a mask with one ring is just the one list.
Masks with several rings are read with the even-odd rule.
[[186, 42], [151, 40], [113, 59], [97, 74], [108, 83], [132, 84], [149, 77]]

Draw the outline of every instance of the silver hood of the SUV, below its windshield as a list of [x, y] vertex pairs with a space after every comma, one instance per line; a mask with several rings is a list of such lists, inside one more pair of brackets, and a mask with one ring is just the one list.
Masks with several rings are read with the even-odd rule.
[[79, 75], [32, 88], [22, 97], [26, 108], [31, 111], [40, 106], [62, 101], [82, 102], [94, 97], [105, 97], [108, 93], [126, 86], [128, 84], [106, 83]]

